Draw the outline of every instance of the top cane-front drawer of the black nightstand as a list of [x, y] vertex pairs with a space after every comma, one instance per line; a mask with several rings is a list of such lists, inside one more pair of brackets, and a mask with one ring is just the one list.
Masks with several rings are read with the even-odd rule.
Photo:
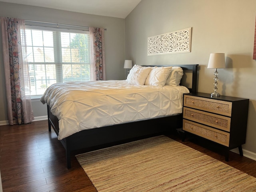
[[184, 95], [184, 106], [231, 116], [232, 102]]

